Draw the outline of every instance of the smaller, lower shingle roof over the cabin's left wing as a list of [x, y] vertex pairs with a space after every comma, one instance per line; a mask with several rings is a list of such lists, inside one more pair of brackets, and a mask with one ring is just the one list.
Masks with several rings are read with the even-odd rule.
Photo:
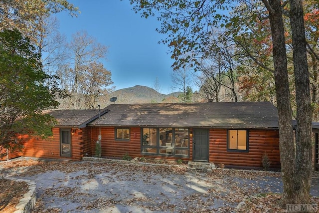
[[[107, 110], [101, 110], [100, 115]], [[57, 120], [57, 127], [78, 127], [83, 128], [89, 122], [99, 118], [99, 110], [96, 109], [79, 109], [79, 110], [51, 110], [48, 112]]]

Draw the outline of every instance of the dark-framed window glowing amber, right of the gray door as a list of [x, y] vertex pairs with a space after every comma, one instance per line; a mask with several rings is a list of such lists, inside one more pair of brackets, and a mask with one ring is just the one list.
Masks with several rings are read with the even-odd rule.
[[247, 130], [228, 130], [227, 151], [248, 152], [247, 133]]

